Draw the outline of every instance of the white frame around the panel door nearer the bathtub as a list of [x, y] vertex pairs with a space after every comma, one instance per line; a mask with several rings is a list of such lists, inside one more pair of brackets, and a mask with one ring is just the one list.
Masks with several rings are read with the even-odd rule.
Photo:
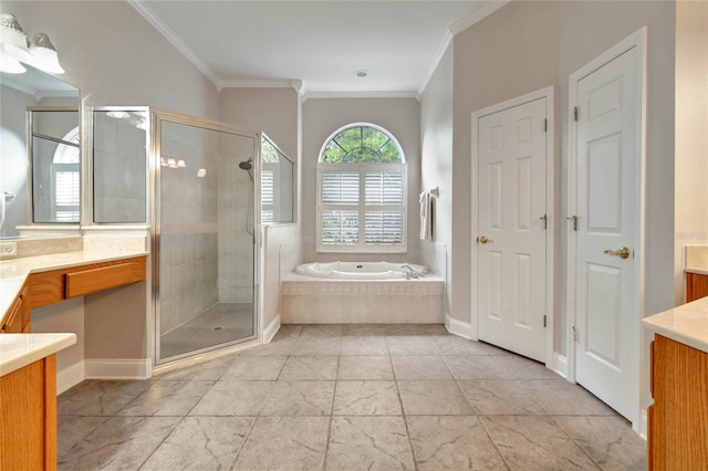
[[533, 102], [539, 98], [545, 98], [545, 118], [546, 133], [545, 133], [545, 211], [548, 218], [548, 229], [545, 232], [545, 308], [546, 308], [546, 328], [545, 328], [545, 366], [551, 369], [556, 369], [556, 365], [553, 360], [553, 325], [554, 325], [554, 310], [553, 310], [553, 248], [555, 241], [555, 218], [554, 218], [554, 158], [553, 158], [553, 130], [554, 130], [554, 104], [553, 104], [553, 86], [537, 90], [534, 92], [527, 93], [525, 95], [518, 96], [516, 98], [508, 100], [503, 103], [478, 109], [472, 113], [472, 176], [470, 181], [472, 203], [471, 203], [471, 234], [470, 244], [471, 250], [471, 276], [470, 276], [470, 293], [471, 293], [471, 316], [470, 316], [470, 333], [471, 338], [477, 341], [479, 338], [479, 308], [477, 300], [479, 299], [478, 285], [479, 280], [478, 265], [479, 260], [479, 247], [472, 243], [472, 240], [479, 232], [478, 214], [479, 214], [479, 186], [477, 185], [477, 178], [479, 176], [479, 121], [490, 114], [498, 113], [504, 109], [513, 108], [516, 106], [523, 105], [524, 103]]

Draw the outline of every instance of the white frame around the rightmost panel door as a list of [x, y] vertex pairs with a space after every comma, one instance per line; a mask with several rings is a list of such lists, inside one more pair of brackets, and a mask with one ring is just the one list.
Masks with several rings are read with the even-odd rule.
[[[644, 232], [645, 232], [645, 177], [646, 177], [646, 27], [639, 29], [628, 38], [625, 38], [607, 51], [593, 59], [591, 62], [572, 73], [569, 77], [569, 113], [568, 113], [568, 129], [569, 129], [569, 178], [568, 178], [568, 216], [572, 217], [577, 214], [577, 124], [574, 121], [574, 108], [577, 106], [577, 84], [579, 82], [590, 75], [592, 72], [612, 62], [620, 55], [636, 48], [637, 59], [641, 62], [641, 90], [637, 93], [637, 103], [641, 106], [639, 123], [637, 123], [638, 133], [636, 134], [637, 142], [636, 148], [639, 150], [639, 213], [638, 227], [635, 228], [633, 234], [633, 248], [634, 259], [637, 263], [634, 264], [634, 282], [636, 283], [636, 290], [634, 291], [633, 304], [634, 311], [631, 313], [634, 316], [636, 324], [635, 335], [639, 337], [642, 325], [641, 321], [644, 316]], [[576, 355], [575, 355], [575, 342], [573, 341], [572, 328], [576, 323], [576, 291], [575, 291], [575, 269], [577, 266], [576, 253], [577, 253], [577, 232], [572, 228], [572, 224], [568, 224], [568, 363], [569, 363], [569, 376], [568, 380], [575, 383], [576, 375]], [[641, 343], [637, 339], [636, 345], [641, 347]], [[636, 365], [637, 368], [637, 411], [636, 419], [632, 420], [633, 427], [636, 430], [638, 427], [639, 417], [639, 371], [642, 355], [638, 355], [639, 362]]]

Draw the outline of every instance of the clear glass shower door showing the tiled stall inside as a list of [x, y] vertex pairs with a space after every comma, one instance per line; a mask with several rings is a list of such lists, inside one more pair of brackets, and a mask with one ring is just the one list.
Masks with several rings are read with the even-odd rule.
[[157, 363], [256, 338], [257, 135], [155, 114]]

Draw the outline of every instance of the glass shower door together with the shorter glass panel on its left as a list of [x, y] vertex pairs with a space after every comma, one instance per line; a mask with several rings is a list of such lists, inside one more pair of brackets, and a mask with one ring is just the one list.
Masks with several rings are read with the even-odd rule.
[[93, 127], [94, 223], [150, 224], [155, 365], [256, 339], [260, 134], [147, 107]]

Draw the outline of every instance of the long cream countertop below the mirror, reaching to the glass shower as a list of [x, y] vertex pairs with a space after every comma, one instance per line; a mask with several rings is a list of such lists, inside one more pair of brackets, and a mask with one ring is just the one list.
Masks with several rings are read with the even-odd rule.
[[[0, 317], [10, 308], [30, 273], [147, 255], [145, 250], [84, 250], [0, 260]], [[7, 335], [7, 334], [3, 334]]]

